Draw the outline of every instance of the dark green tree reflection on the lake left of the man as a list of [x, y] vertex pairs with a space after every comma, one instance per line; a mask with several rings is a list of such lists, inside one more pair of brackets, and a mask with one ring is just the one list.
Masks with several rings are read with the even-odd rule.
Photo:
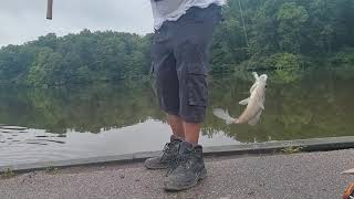
[[9, 88], [0, 93], [0, 121], [4, 124], [63, 134], [100, 133], [154, 118], [163, 118], [144, 83], [100, 84], [55, 90]]

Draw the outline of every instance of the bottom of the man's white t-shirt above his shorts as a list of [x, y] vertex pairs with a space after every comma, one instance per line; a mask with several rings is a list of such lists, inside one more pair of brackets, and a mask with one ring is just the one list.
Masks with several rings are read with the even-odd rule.
[[207, 8], [211, 3], [222, 6], [226, 0], [150, 0], [154, 27], [158, 30], [165, 21], [177, 21], [191, 7]]

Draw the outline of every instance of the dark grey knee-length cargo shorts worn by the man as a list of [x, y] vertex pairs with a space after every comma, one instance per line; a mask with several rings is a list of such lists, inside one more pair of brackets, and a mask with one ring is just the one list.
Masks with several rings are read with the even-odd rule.
[[221, 7], [190, 8], [155, 31], [152, 49], [158, 104], [187, 123], [201, 123], [208, 104], [207, 63]]

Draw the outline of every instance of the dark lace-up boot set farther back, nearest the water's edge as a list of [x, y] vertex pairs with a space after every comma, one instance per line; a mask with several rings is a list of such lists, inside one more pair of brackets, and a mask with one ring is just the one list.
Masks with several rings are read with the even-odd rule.
[[145, 167], [148, 169], [170, 168], [176, 161], [180, 143], [180, 139], [176, 139], [174, 136], [170, 136], [170, 143], [165, 145], [163, 155], [146, 159]]

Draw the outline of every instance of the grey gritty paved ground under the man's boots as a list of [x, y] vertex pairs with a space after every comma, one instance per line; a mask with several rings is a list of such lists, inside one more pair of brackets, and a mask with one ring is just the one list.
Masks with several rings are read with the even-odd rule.
[[341, 198], [354, 176], [354, 149], [206, 159], [208, 178], [181, 192], [163, 190], [166, 171], [142, 164], [65, 168], [0, 178], [1, 199]]

